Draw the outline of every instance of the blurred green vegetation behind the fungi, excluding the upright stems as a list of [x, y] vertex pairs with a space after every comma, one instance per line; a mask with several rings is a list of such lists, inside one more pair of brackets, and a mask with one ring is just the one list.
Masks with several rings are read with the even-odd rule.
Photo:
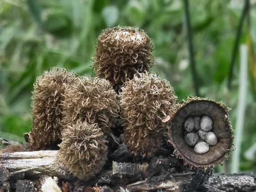
[[[189, 0], [200, 96], [232, 108], [236, 129], [239, 85], [237, 54], [231, 89], [230, 60], [243, 0]], [[243, 25], [250, 79], [240, 170], [256, 172], [256, 8]], [[250, 21], [250, 22], [249, 22]], [[168, 79], [179, 100], [195, 96], [189, 66], [182, 0], [0, 0], [0, 137], [22, 141], [31, 128], [31, 92], [36, 77], [50, 67], [93, 76], [97, 36], [108, 26], [140, 27], [154, 42], [152, 69]]]

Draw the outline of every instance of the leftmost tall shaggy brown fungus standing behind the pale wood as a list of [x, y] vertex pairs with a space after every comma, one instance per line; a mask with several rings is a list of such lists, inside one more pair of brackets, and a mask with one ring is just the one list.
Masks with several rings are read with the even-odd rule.
[[[46, 150], [57, 146], [63, 129], [62, 102], [67, 87], [78, 81], [75, 73], [53, 68], [36, 79], [32, 99], [32, 127], [29, 134], [31, 150]], [[56, 145], [56, 146], [55, 146]]]

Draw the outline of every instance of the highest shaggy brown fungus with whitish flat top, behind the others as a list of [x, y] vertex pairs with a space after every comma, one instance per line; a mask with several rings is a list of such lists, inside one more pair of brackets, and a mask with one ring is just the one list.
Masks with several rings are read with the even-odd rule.
[[109, 80], [118, 93], [124, 82], [154, 65], [153, 43], [139, 28], [113, 27], [97, 39], [93, 57], [95, 76]]

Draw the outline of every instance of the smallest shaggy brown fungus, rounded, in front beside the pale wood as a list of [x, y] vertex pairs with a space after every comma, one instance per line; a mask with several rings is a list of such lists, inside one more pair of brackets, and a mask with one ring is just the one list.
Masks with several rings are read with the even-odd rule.
[[104, 166], [107, 141], [97, 123], [78, 120], [62, 131], [62, 143], [58, 151], [60, 161], [77, 178], [88, 180]]

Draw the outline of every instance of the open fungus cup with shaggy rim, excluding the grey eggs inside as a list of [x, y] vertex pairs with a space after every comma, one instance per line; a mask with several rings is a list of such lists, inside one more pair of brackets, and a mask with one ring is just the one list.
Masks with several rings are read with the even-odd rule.
[[[168, 135], [170, 142], [175, 148], [175, 154], [178, 158], [184, 160], [190, 168], [207, 167], [221, 163], [225, 157], [228, 157], [233, 146], [233, 130], [231, 129], [228, 116], [229, 108], [222, 103], [202, 98], [188, 98], [185, 105], [177, 109], [173, 118], [170, 120]], [[185, 143], [185, 129], [183, 124], [185, 119], [194, 116], [208, 116], [212, 119], [212, 132], [217, 137], [217, 144], [210, 146], [209, 151], [204, 154], [198, 154]]]

